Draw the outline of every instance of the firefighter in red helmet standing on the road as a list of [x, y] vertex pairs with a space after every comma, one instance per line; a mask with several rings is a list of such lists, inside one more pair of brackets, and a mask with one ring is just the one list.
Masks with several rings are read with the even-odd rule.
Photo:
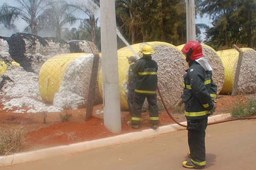
[[217, 85], [212, 80], [212, 68], [197, 41], [189, 41], [181, 50], [186, 55], [189, 69], [186, 70], [182, 99], [185, 102], [187, 120], [189, 161], [183, 161], [186, 168], [203, 169], [206, 164], [205, 130], [208, 116], [215, 109]]

